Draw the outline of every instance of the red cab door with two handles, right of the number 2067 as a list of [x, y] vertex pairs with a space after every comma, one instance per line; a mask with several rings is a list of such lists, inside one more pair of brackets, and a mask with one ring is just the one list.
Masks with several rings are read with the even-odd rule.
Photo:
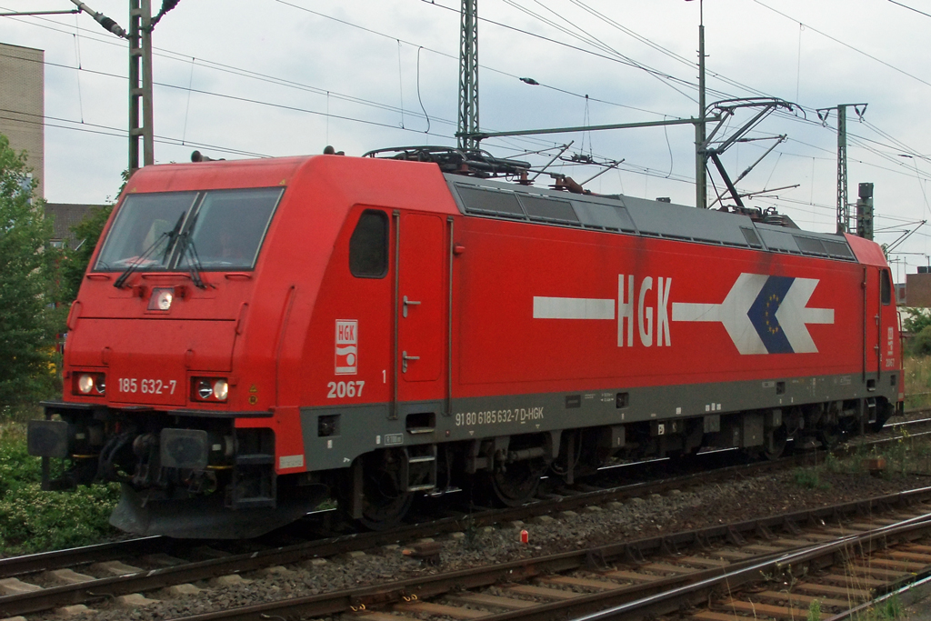
[[447, 264], [439, 216], [404, 212], [398, 221], [398, 401], [443, 398]]

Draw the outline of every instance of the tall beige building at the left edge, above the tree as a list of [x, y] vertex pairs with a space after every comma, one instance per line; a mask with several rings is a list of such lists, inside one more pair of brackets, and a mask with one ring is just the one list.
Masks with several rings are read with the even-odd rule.
[[0, 134], [17, 152], [26, 151], [28, 165], [45, 196], [45, 52], [0, 43]]

